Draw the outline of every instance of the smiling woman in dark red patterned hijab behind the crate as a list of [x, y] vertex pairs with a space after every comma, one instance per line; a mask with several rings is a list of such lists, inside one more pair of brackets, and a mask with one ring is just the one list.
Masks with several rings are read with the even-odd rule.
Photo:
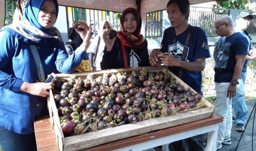
[[134, 8], [123, 10], [120, 18], [122, 31], [110, 39], [106, 31], [103, 39], [106, 44], [101, 61], [101, 69], [133, 68], [150, 66], [148, 42], [140, 34], [141, 17]]

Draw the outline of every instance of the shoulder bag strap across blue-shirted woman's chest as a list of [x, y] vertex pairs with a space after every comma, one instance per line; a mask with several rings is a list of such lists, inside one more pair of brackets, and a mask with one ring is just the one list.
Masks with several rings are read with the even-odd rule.
[[32, 55], [34, 57], [34, 60], [36, 62], [36, 69], [37, 69], [37, 74], [38, 74], [38, 77], [39, 77], [39, 81], [40, 82], [45, 82], [45, 72], [43, 71], [42, 62], [41, 62], [41, 59], [39, 57], [36, 46], [35, 45], [29, 45], [29, 47], [30, 47], [30, 50], [31, 50]]

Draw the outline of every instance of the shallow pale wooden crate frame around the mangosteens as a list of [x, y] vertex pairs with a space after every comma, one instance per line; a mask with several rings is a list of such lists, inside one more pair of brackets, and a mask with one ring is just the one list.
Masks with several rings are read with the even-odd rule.
[[[57, 74], [57, 78], [65, 78], [75, 75], [76, 78], [80, 77], [85, 79], [88, 74], [94, 74], [95, 77], [102, 75], [103, 73], [118, 73], [118, 72], [132, 72], [142, 68], [128, 68], [128, 69], [110, 69], [105, 71], [96, 72], [85, 72], [85, 73], [74, 73], [74, 74]], [[186, 90], [192, 90], [186, 83], [179, 79], [175, 74], [170, 72], [165, 67], [146, 67], [148, 71], [163, 71], [169, 72], [173, 77], [176, 78], [178, 84], [185, 86]], [[195, 91], [194, 91], [195, 92]], [[50, 112], [50, 119], [52, 127], [55, 131], [56, 142], [59, 150], [81, 150], [90, 147], [97, 146], [123, 138], [140, 135], [142, 133], [161, 130], [167, 127], [181, 125], [192, 121], [197, 121], [205, 118], [210, 118], [214, 112], [214, 106], [205, 98], [201, 97], [201, 100], [205, 103], [205, 108], [196, 109], [193, 111], [181, 112], [168, 117], [159, 117], [149, 120], [137, 122], [136, 124], [126, 124], [117, 127], [111, 127], [104, 130], [95, 132], [84, 133], [82, 135], [75, 135], [70, 137], [64, 137], [61, 124], [58, 117], [57, 107], [52, 95], [48, 99], [48, 108]]]

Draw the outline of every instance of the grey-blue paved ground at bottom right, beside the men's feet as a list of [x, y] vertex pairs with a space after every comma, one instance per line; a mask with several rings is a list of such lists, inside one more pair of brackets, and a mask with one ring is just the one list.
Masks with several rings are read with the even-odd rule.
[[[256, 103], [256, 100], [247, 103], [247, 107], [248, 107], [248, 111], [249, 111], [248, 118], [251, 113], [252, 113], [252, 115], [248, 121], [246, 129], [244, 130], [243, 136], [242, 136], [242, 132], [236, 131], [236, 123], [233, 122], [233, 127], [232, 127], [232, 131], [231, 131], [232, 144], [229, 146], [222, 144], [222, 148], [218, 151], [231, 151], [231, 150], [233, 151], [233, 150], [235, 150], [241, 136], [242, 136], [242, 138], [238, 144], [236, 151], [250, 151], [250, 150], [255, 151], [256, 150], [256, 126], [255, 126], [256, 119], [254, 120], [254, 118], [256, 117], [255, 109], [252, 112], [252, 109], [253, 109], [255, 103]], [[253, 122], [253, 120], [254, 120], [254, 122]], [[253, 129], [253, 126], [254, 126], [254, 129]], [[253, 141], [252, 141], [252, 138], [253, 138]], [[252, 142], [253, 142], [253, 148], [252, 148]]]

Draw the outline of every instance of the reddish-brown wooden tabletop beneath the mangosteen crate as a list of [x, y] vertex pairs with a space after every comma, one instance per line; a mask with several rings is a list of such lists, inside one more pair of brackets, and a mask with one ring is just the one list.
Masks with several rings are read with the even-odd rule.
[[[183, 125], [168, 127], [166, 129], [161, 129], [157, 131], [152, 131], [148, 133], [143, 133], [138, 136], [133, 136], [129, 138], [124, 138], [122, 140], [117, 140], [105, 144], [101, 144], [99, 146], [95, 146], [92, 148], [88, 148], [85, 150], [88, 151], [101, 151], [101, 150], [113, 150], [119, 149], [123, 147], [132, 146], [138, 143], [144, 143], [150, 141], [152, 139], [162, 138], [166, 136], [175, 135], [177, 133], [197, 129], [200, 127], [216, 124], [222, 122], [223, 118], [220, 115], [214, 114], [211, 118], [206, 118], [198, 121], [193, 121], [192, 123], [187, 123]], [[38, 119], [34, 122], [35, 125], [35, 135], [36, 135], [36, 143], [37, 150], [45, 151], [45, 150], [58, 150], [56, 146], [55, 135], [53, 129], [51, 129], [51, 123], [48, 118]], [[43, 129], [43, 131], [42, 131]], [[41, 137], [47, 136], [42, 139]], [[48, 141], [49, 140], [49, 141]], [[47, 143], [46, 143], [47, 142]]]

